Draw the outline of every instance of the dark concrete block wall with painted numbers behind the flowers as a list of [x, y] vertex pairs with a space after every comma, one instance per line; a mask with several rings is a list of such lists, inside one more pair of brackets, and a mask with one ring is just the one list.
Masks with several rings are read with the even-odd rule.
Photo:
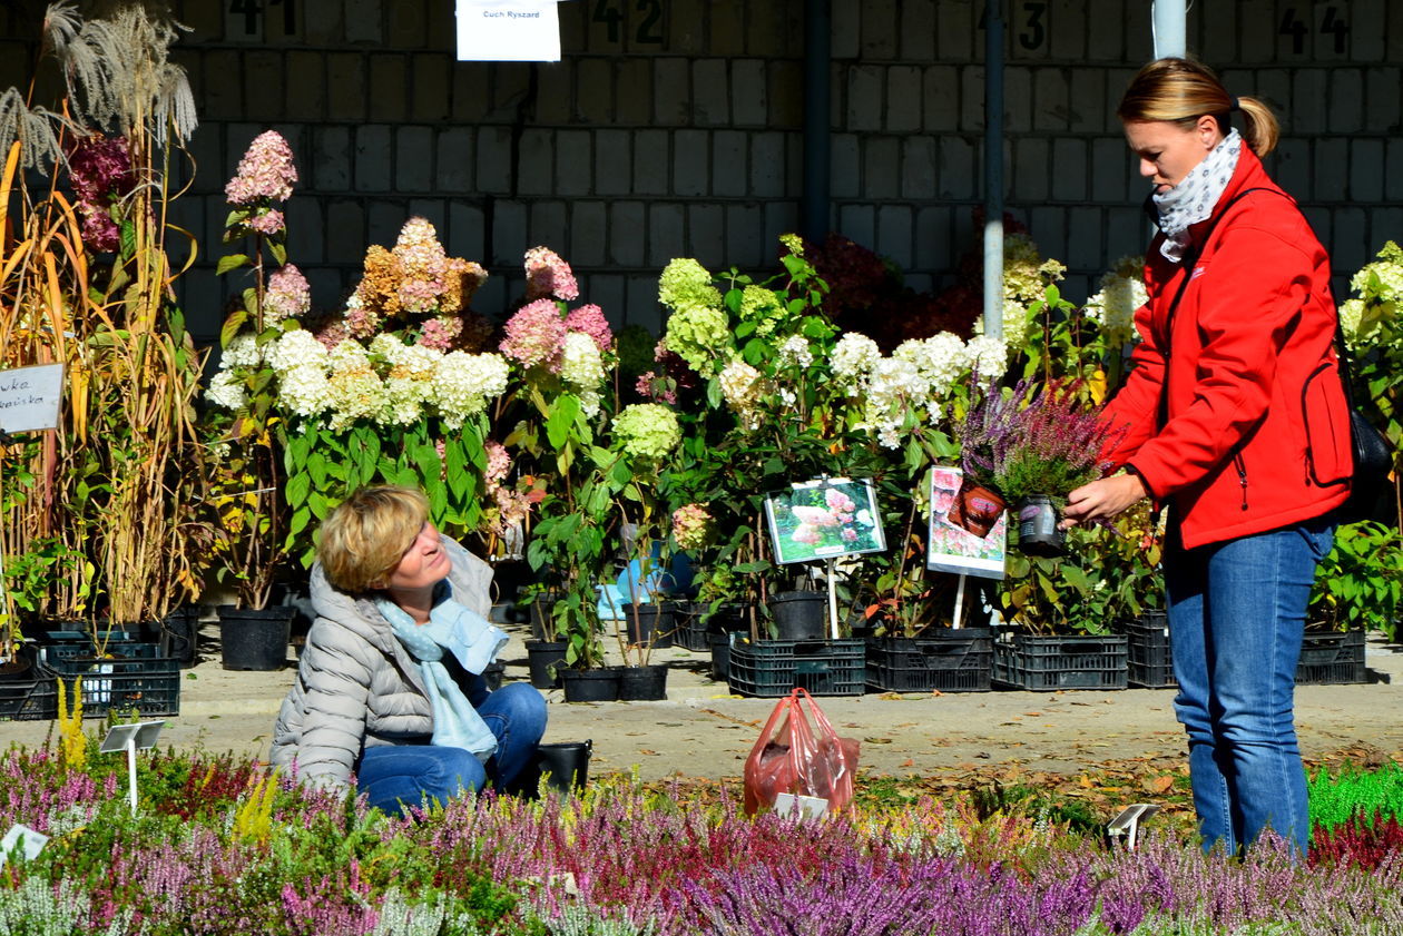
[[[0, 86], [32, 49], [14, 6], [0, 14]], [[174, 6], [192, 27], [177, 59], [202, 116], [177, 220], [205, 253], [182, 289], [206, 338], [227, 290], [213, 276], [223, 182], [267, 128], [297, 153], [290, 255], [320, 305], [355, 282], [366, 246], [424, 215], [494, 274], [484, 312], [519, 295], [522, 253], [547, 244], [615, 323], [657, 328], [668, 260], [766, 269], [798, 227], [803, 0], [561, 3], [558, 65], [456, 62], [453, 0]], [[1082, 297], [1146, 240], [1113, 111], [1152, 53], [1150, 0], [1005, 11], [1007, 206]], [[982, 0], [832, 0], [831, 226], [916, 288], [953, 279], [982, 202]], [[1190, 48], [1230, 90], [1278, 107], [1270, 166], [1341, 274], [1403, 236], [1403, 4], [1200, 3]]]

